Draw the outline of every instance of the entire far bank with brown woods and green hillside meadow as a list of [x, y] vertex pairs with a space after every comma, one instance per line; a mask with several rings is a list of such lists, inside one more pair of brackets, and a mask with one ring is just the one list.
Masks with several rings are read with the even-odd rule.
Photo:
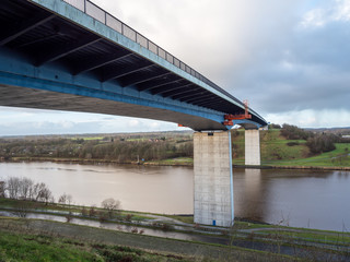
[[[350, 129], [302, 130], [270, 124], [260, 131], [262, 168], [350, 170]], [[244, 166], [244, 130], [232, 131], [233, 164]], [[0, 159], [192, 166], [192, 133], [40, 135], [0, 139]]]

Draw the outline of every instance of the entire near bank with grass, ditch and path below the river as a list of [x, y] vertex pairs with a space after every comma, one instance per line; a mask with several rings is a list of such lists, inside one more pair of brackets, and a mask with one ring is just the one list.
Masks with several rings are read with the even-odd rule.
[[[348, 261], [350, 234], [0, 199], [2, 261]], [[25, 206], [25, 209], [24, 209]], [[85, 211], [94, 210], [94, 215]], [[98, 214], [108, 214], [104, 219]], [[45, 219], [33, 218], [49, 214]], [[126, 214], [129, 214], [126, 215]], [[132, 214], [132, 215], [131, 215]], [[30, 218], [32, 217], [32, 218]], [[58, 222], [56, 217], [62, 217]], [[127, 218], [127, 219], [126, 219]], [[86, 221], [86, 224], [82, 222]], [[98, 221], [95, 226], [89, 221]], [[128, 224], [122, 230], [121, 226]], [[84, 226], [85, 225], [85, 226]], [[89, 225], [89, 226], [86, 226]], [[104, 228], [105, 226], [107, 228]], [[161, 226], [163, 225], [163, 226]], [[166, 225], [166, 226], [164, 226]], [[154, 236], [151, 231], [163, 231]], [[161, 237], [160, 237], [161, 236]], [[165, 237], [165, 238], [164, 238]]]

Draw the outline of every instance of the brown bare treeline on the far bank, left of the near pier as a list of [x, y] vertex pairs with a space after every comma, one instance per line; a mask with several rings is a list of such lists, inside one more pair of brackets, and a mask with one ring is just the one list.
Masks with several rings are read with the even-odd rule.
[[173, 157], [192, 157], [190, 135], [175, 138], [101, 138], [0, 140], [0, 157], [52, 157], [105, 159], [130, 163], [138, 159], [161, 160]]

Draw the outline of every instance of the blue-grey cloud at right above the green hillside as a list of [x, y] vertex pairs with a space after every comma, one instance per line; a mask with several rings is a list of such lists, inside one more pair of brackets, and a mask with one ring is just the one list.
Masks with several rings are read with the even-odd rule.
[[350, 110], [350, 31], [348, 22], [276, 32], [285, 38], [261, 45], [256, 60], [228, 76], [238, 97], [249, 97], [262, 112], [303, 109]]

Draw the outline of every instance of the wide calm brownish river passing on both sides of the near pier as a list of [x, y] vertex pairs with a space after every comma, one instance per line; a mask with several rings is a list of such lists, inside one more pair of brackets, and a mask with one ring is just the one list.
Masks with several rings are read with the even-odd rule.
[[[45, 182], [56, 200], [118, 199], [124, 210], [192, 214], [191, 167], [0, 163], [0, 179]], [[272, 224], [350, 230], [350, 171], [234, 169], [235, 216]]]

